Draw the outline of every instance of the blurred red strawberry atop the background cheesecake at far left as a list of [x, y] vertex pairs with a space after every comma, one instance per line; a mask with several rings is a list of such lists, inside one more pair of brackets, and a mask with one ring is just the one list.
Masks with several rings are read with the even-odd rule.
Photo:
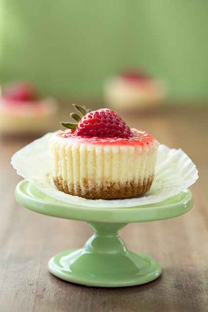
[[10, 101], [32, 101], [35, 92], [29, 83], [13, 83], [3, 90], [3, 98]]

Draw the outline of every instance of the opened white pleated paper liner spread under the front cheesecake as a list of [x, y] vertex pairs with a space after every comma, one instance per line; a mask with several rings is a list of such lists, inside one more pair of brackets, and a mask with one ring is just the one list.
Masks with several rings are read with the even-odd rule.
[[126, 199], [91, 200], [65, 194], [54, 186], [48, 150], [48, 139], [59, 131], [47, 133], [42, 138], [21, 148], [13, 155], [11, 161], [19, 175], [35, 185], [44, 194], [57, 200], [86, 207], [143, 206], [159, 203], [177, 195], [198, 179], [196, 166], [181, 148], [170, 149], [161, 144], [158, 148], [155, 178], [150, 190], [145, 195]]

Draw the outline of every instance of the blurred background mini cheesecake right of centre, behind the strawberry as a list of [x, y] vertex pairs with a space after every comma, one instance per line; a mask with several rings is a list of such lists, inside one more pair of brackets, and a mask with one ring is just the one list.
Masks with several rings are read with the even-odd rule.
[[127, 70], [109, 78], [104, 84], [104, 102], [115, 110], [136, 111], [163, 104], [166, 84], [137, 70]]

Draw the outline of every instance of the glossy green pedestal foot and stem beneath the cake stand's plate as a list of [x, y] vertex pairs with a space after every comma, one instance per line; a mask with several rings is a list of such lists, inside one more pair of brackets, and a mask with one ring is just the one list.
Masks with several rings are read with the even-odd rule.
[[48, 269], [63, 280], [86, 286], [124, 287], [144, 284], [161, 274], [148, 255], [129, 251], [118, 235], [126, 224], [88, 223], [95, 229], [82, 249], [52, 257]]

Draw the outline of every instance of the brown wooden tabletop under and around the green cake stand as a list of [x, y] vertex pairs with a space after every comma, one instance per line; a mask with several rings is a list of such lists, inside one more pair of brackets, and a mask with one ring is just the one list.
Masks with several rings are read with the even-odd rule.
[[162, 275], [123, 288], [86, 287], [53, 276], [48, 260], [63, 250], [83, 247], [93, 230], [85, 222], [38, 214], [18, 204], [15, 187], [22, 178], [10, 159], [31, 138], [1, 138], [0, 311], [208, 311], [208, 106], [171, 106], [125, 115], [125, 121], [160, 143], [181, 147], [199, 170], [198, 181], [190, 187], [194, 207], [188, 213], [128, 224], [119, 231], [128, 249], [158, 260]]

